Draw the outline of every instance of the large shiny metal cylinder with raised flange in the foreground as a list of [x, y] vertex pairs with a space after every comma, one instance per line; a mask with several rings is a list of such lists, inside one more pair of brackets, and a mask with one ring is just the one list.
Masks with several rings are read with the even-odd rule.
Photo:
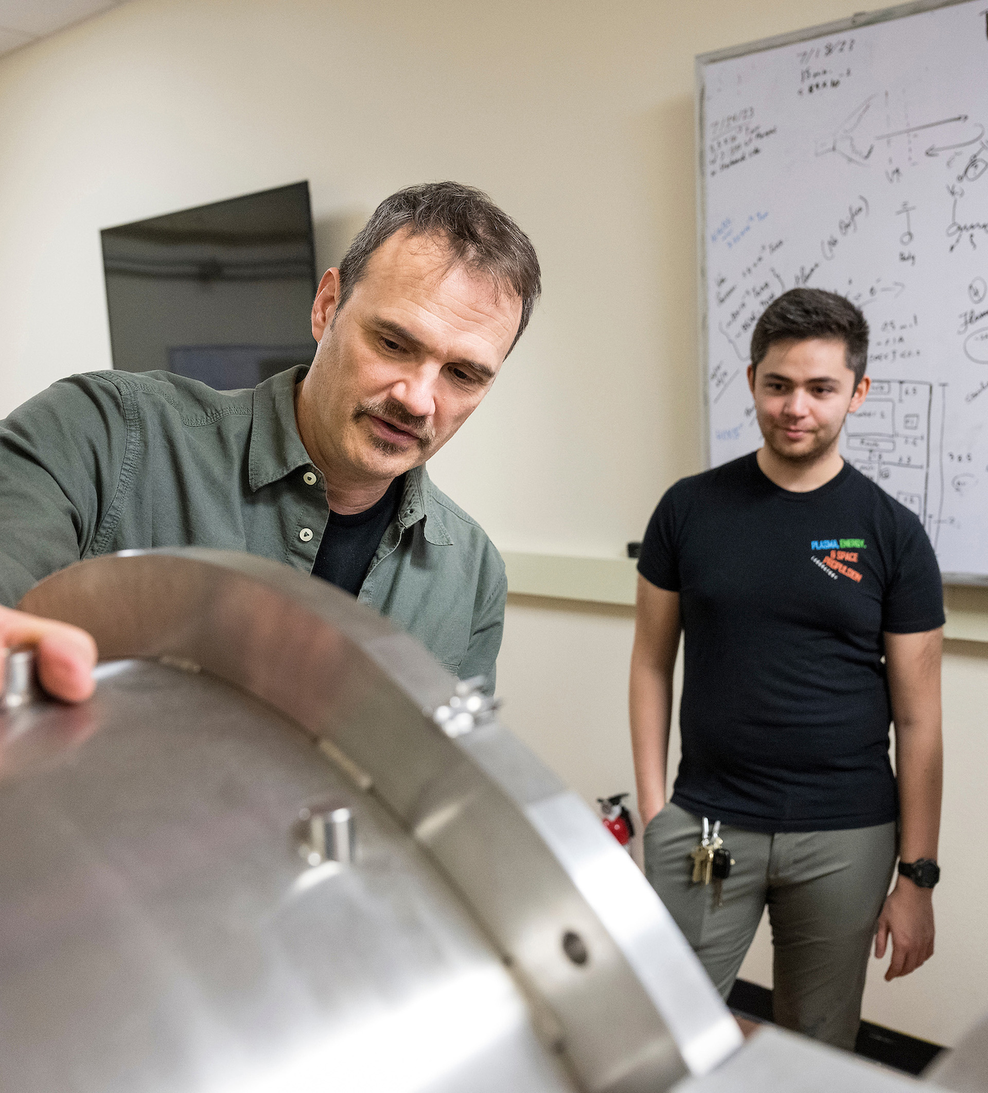
[[22, 607], [102, 660], [80, 706], [8, 660], [0, 1089], [905, 1093], [783, 1033], [734, 1054], [596, 815], [337, 589], [155, 551]]

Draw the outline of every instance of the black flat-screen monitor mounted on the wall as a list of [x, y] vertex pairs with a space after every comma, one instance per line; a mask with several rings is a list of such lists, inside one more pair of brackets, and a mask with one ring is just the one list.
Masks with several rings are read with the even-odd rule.
[[308, 183], [101, 236], [115, 368], [162, 368], [231, 390], [311, 362]]

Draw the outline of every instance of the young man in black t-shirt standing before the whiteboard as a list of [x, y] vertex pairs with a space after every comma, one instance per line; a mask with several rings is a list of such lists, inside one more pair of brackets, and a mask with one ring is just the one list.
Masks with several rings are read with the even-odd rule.
[[[725, 997], [767, 904], [776, 1021], [848, 1049], [875, 926], [875, 955], [893, 943], [886, 979], [933, 952], [942, 773], [937, 560], [916, 516], [837, 447], [867, 360], [868, 325], [842, 296], [796, 289], [766, 309], [748, 369], [765, 443], [659, 503], [631, 674], [649, 880]], [[681, 630], [683, 757], [666, 803]], [[692, 882], [704, 816], [736, 860], [722, 903]]]

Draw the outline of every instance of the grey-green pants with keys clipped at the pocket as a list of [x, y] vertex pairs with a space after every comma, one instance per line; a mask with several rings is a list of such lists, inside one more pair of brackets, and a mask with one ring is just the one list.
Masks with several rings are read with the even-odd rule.
[[896, 825], [776, 835], [721, 826], [737, 862], [721, 907], [713, 883], [691, 881], [702, 826], [667, 804], [645, 828], [645, 872], [714, 985], [727, 998], [767, 904], [776, 1023], [852, 1050]]

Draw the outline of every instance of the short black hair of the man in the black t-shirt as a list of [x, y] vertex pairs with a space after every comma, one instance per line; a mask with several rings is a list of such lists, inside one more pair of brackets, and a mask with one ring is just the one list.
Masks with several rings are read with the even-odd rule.
[[860, 307], [823, 289], [790, 289], [765, 308], [751, 336], [751, 366], [757, 368], [776, 342], [808, 338], [843, 341], [855, 386], [861, 383], [868, 367], [868, 321]]

